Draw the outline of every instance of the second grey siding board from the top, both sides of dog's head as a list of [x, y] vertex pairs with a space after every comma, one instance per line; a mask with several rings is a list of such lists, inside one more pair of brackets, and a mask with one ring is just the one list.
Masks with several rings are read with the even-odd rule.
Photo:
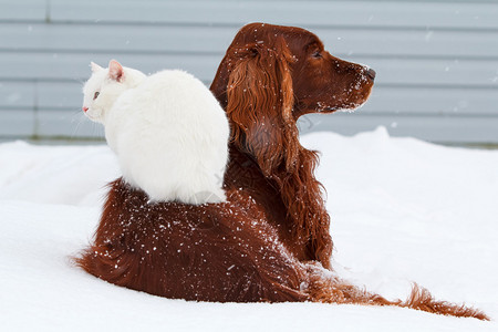
[[[238, 28], [188, 25], [0, 25], [2, 50], [224, 54]], [[332, 53], [409, 58], [495, 58], [497, 31], [312, 29]]]

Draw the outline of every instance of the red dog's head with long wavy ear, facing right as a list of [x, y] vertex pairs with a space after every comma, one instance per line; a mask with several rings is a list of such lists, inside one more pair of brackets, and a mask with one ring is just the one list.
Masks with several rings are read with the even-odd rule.
[[267, 173], [282, 154], [292, 168], [301, 115], [361, 106], [374, 77], [373, 70], [332, 56], [304, 29], [252, 23], [235, 37], [210, 89], [227, 111], [234, 142]]

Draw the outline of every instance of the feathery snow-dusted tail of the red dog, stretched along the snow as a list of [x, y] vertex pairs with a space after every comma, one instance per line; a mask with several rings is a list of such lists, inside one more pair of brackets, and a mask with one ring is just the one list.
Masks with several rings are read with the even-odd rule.
[[346, 281], [334, 277], [330, 271], [324, 270], [321, 266], [315, 263], [307, 264], [307, 269], [310, 279], [305, 292], [313, 302], [396, 305], [430, 313], [476, 318], [489, 321], [489, 318], [483, 311], [466, 307], [465, 304], [438, 301], [433, 298], [428, 290], [418, 287], [416, 283], [413, 286], [412, 293], [406, 301], [390, 301], [378, 294], [367, 292], [357, 286], [347, 283]]

